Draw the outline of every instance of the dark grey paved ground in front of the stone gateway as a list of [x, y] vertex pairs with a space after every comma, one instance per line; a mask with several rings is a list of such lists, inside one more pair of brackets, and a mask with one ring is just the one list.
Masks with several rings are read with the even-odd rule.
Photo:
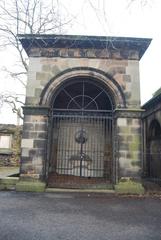
[[0, 192], [1, 239], [161, 240], [161, 200]]

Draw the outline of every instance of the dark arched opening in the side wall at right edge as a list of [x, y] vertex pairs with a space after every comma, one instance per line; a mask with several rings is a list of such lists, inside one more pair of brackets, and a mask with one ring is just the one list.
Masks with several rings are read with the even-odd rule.
[[149, 127], [148, 152], [148, 175], [161, 178], [161, 126], [156, 119]]

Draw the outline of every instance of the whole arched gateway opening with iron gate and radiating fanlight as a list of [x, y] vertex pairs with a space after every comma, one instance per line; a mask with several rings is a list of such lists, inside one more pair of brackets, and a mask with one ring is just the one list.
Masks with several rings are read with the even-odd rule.
[[85, 187], [112, 181], [111, 93], [98, 80], [68, 79], [54, 94], [48, 184]]

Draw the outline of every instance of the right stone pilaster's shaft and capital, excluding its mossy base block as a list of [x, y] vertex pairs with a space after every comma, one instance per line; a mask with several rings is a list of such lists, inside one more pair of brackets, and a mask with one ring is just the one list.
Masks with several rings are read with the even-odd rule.
[[142, 161], [141, 111], [118, 110], [116, 116], [119, 178], [139, 178]]

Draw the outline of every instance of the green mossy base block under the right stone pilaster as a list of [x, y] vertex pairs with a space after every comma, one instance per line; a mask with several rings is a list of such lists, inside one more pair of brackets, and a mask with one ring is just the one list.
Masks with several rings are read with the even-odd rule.
[[115, 191], [120, 194], [144, 194], [142, 184], [130, 178], [122, 179], [115, 185]]

